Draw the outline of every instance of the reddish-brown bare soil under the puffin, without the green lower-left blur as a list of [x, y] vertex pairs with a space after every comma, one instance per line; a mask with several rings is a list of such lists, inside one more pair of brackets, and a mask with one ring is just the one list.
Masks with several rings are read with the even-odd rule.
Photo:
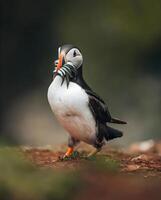
[[40, 168], [74, 170], [85, 187], [74, 199], [161, 199], [161, 143], [146, 141], [129, 148], [105, 148], [86, 158], [88, 148], [80, 148], [70, 159], [61, 160], [61, 151], [24, 148], [29, 160]]

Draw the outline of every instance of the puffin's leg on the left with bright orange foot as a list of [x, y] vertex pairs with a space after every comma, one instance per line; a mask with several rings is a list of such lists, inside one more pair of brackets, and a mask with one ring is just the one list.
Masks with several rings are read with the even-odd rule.
[[68, 149], [66, 153], [64, 154], [63, 158], [70, 157], [74, 151], [74, 147], [79, 143], [79, 140], [76, 140], [75, 138], [69, 136], [68, 138]]

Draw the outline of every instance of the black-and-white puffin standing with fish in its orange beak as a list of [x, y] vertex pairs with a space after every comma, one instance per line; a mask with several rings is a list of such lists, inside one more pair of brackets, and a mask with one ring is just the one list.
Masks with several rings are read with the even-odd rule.
[[103, 99], [84, 80], [83, 56], [76, 46], [65, 44], [59, 47], [58, 60], [54, 63], [47, 97], [57, 121], [69, 133], [63, 158], [70, 157], [80, 141], [94, 147], [88, 156], [95, 155], [106, 141], [123, 135], [109, 123], [126, 122], [113, 118]]

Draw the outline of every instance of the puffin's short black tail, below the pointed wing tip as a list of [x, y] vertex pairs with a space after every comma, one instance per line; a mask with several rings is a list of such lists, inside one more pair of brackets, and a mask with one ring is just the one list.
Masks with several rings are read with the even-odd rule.
[[107, 141], [122, 136], [123, 136], [122, 131], [106, 126], [106, 132], [104, 132], [104, 137]]

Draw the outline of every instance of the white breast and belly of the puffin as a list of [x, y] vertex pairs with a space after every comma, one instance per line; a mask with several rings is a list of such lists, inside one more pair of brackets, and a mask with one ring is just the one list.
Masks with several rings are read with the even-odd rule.
[[56, 76], [48, 89], [48, 101], [60, 124], [78, 140], [92, 144], [96, 138], [96, 124], [88, 107], [88, 95], [76, 83]]

